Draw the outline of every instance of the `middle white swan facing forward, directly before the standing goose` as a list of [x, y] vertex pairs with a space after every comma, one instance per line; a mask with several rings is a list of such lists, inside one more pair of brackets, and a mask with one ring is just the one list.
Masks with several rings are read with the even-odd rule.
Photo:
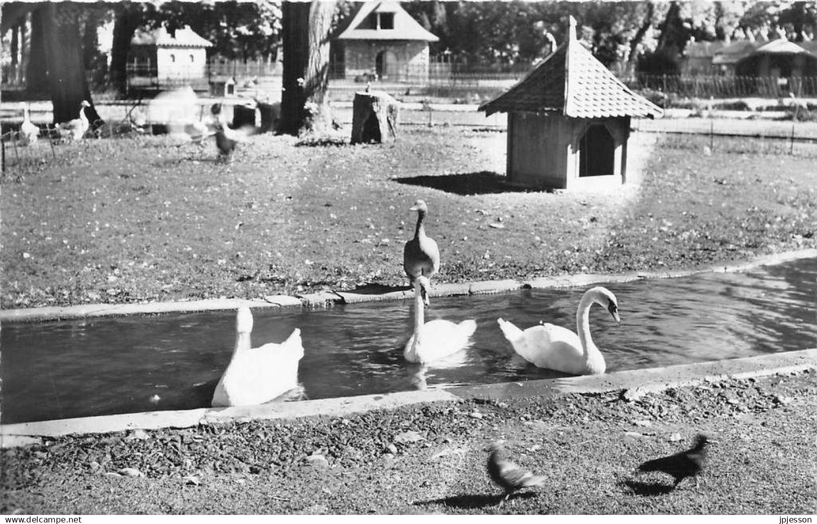
[[475, 320], [425, 322], [423, 310], [428, 304], [429, 285], [427, 277], [420, 275], [414, 279], [414, 332], [403, 352], [408, 362], [432, 362], [457, 353], [466, 347], [476, 331]]

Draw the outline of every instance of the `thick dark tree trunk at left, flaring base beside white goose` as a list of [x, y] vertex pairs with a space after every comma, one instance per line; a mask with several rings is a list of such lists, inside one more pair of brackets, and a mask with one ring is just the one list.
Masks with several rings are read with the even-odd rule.
[[98, 127], [102, 122], [93, 107], [91, 90], [85, 77], [78, 7], [68, 2], [47, 2], [40, 11], [54, 123], [78, 118], [79, 104], [87, 100], [92, 106], [85, 110], [85, 114], [92, 127]]

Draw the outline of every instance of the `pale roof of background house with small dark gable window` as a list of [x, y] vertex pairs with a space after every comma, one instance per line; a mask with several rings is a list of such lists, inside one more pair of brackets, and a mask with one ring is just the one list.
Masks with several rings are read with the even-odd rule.
[[[393, 16], [391, 27], [378, 27], [377, 14]], [[375, 15], [371, 17], [370, 15]], [[382, 17], [379, 20], [383, 20]], [[422, 42], [437, 42], [434, 34], [426, 31], [417, 20], [400, 7], [400, 2], [385, 0], [366, 2], [352, 19], [348, 27], [337, 35], [339, 40], [420, 40]]]

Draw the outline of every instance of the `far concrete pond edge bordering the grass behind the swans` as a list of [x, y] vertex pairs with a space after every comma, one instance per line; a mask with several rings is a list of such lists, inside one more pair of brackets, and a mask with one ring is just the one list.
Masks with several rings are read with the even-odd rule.
[[[782, 264], [793, 260], [817, 258], [817, 249], [785, 251], [775, 255], [758, 256], [741, 264], [713, 264], [706, 269], [681, 271], [636, 271], [629, 273], [592, 274], [578, 273], [560, 277], [538, 277], [525, 281], [513, 279], [486, 280], [462, 283], [436, 283], [430, 295], [458, 296], [503, 293], [519, 289], [548, 289], [558, 287], [590, 286], [605, 282], [633, 282], [654, 278], [688, 277], [699, 273], [736, 273], [764, 265]], [[0, 309], [0, 322], [42, 322], [76, 318], [113, 317], [124, 315], [147, 315], [157, 313], [194, 313], [203, 311], [226, 311], [248, 306], [250, 308], [279, 308], [301, 306], [306, 308], [327, 307], [333, 304], [356, 304], [376, 300], [405, 300], [413, 298], [408, 288], [374, 286], [373, 292], [319, 291], [306, 295], [268, 295], [263, 299], [203, 299], [183, 302], [150, 302], [146, 304], [82, 304], [75, 306], [47, 306], [27, 309]], [[377, 291], [379, 290], [379, 291]], [[356, 290], [360, 291], [360, 290]]]

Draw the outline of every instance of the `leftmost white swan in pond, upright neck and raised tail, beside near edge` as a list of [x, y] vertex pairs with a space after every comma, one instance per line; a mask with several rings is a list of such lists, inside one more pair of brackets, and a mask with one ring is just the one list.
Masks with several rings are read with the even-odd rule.
[[235, 349], [212, 395], [212, 406], [261, 404], [297, 387], [298, 362], [304, 356], [301, 330], [281, 344], [252, 348], [252, 313], [239, 308], [235, 317]]

